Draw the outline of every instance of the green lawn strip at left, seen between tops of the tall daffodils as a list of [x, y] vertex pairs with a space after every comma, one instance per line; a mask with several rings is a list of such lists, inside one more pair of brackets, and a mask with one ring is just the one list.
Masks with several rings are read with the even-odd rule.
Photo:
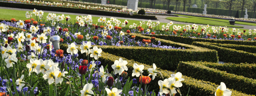
[[[10, 20], [10, 19], [12, 19], [12, 18], [15, 18], [16, 20], [27, 20], [27, 18], [25, 17], [25, 13], [27, 12], [27, 11], [19, 11], [19, 10], [9, 10], [9, 9], [0, 9], [0, 18], [1, 19], [8, 19], [8, 20]], [[44, 15], [43, 15], [43, 17], [44, 18], [46, 18], [47, 17], [47, 15], [48, 15], [48, 13], [47, 12], [44, 12]], [[57, 16], [58, 15], [62, 15], [62, 14], [57, 14]], [[64, 14], [64, 16], [67, 16], [68, 14]], [[70, 16], [70, 18], [71, 18], [71, 20], [72, 20], [72, 22], [75, 20], [75, 17], [76, 17], [76, 15], [69, 15]], [[104, 16], [102, 16], [102, 17], [104, 17]], [[92, 17], [92, 20], [93, 20], [93, 23], [94, 24], [96, 24], [96, 23], [98, 23], [98, 19], [99, 19], [99, 17]], [[110, 18], [107, 18], [107, 20], [110, 20]], [[121, 22], [124, 22], [125, 20], [124, 19], [118, 19], [118, 20], [120, 20]], [[137, 25], [139, 25], [139, 23], [140, 23], [140, 21], [136, 21], [136, 20], [128, 20], [128, 25], [132, 25], [133, 23], [135, 23], [135, 24], [137, 24]], [[141, 21], [142, 22], [142, 21]], [[147, 21], [146, 21], [147, 22]], [[153, 22], [154, 23], [154, 22]], [[196, 22], [194, 22], [195, 24], [196, 24]], [[161, 28], [161, 26], [163, 25], [163, 24], [167, 24], [167, 23], [160, 23], [160, 28]], [[180, 25], [180, 26], [184, 26], [185, 24], [174, 24], [174, 25]], [[201, 28], [200, 28], [200, 25], [198, 25], [199, 26], [199, 28], [198, 28], [198, 30], [201, 30]], [[142, 27], [145, 27], [145, 24], [142, 26]], [[229, 30], [231, 31], [231, 29], [232, 28], [229, 28]], [[237, 28], [237, 29], [240, 29], [241, 31], [242, 30], [246, 30], [246, 32], [248, 32], [248, 29], [241, 29], [241, 28]]]

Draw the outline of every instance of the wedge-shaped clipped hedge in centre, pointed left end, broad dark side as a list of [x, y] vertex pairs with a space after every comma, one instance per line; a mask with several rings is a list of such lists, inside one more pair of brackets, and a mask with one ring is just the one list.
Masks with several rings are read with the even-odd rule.
[[[137, 38], [137, 37], [136, 37]], [[67, 44], [61, 44], [61, 49], [67, 49]], [[79, 45], [78, 45], [79, 46]], [[145, 64], [155, 63], [164, 70], [176, 70], [180, 61], [217, 62], [215, 50], [195, 49], [163, 49], [137, 46], [98, 46], [104, 52], [135, 60]], [[80, 49], [78, 49], [80, 50]], [[64, 50], [65, 52], [66, 50]], [[78, 53], [79, 58], [87, 59]]]

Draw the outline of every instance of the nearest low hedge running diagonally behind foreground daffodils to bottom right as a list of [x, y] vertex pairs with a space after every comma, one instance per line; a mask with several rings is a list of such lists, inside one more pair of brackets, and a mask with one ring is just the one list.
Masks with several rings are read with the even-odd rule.
[[[128, 76], [130, 76], [130, 78], [134, 78], [134, 77], [131, 77], [134, 63], [137, 63], [138, 65], [144, 65], [143, 75], [148, 75], [147, 69], [153, 68], [153, 66], [150, 66], [151, 64], [146, 65], [143, 63], [136, 62], [134, 60], [128, 60], [123, 57], [118, 57], [118, 56], [115, 56], [115, 55], [112, 55], [109, 53], [102, 52], [101, 55], [102, 56], [99, 57], [99, 61], [101, 61], [101, 65], [103, 65], [103, 66], [108, 65], [107, 69], [109, 70], [109, 72], [113, 71], [113, 69], [111, 68], [111, 65], [114, 64], [115, 60], [119, 60], [119, 58], [126, 60], [128, 62], [128, 64], [126, 65], [128, 67], [127, 73], [128, 73]], [[174, 72], [162, 70], [160, 68], [157, 68], [157, 71], [161, 72], [163, 74], [164, 78], [169, 78], [169, 77], [171, 77], [171, 74], [174, 74]], [[180, 87], [182, 95], [186, 95], [190, 88], [190, 91], [189, 91], [190, 96], [209, 96], [209, 95], [212, 96], [212, 95], [214, 95], [216, 88], [218, 87], [218, 85], [216, 85], [214, 83], [197, 80], [192, 77], [185, 76], [185, 75], [183, 75], [182, 78], [185, 79], [184, 81], [182, 81], [183, 86]], [[159, 74], [157, 74], [155, 79], [151, 80], [151, 82], [148, 84], [149, 89], [151, 91], [152, 90], [155, 90], [155, 92], [159, 91], [159, 86], [158, 86], [159, 80], [163, 80], [163, 79]], [[138, 78], [137, 78], [137, 81], [138, 81]], [[218, 84], [220, 84], [220, 83], [218, 83]], [[229, 87], [229, 86], [227, 86], [227, 87]], [[232, 91], [232, 96], [250, 96], [250, 95], [238, 92], [236, 90], [232, 90], [232, 89], [230, 89], [230, 90]]]

